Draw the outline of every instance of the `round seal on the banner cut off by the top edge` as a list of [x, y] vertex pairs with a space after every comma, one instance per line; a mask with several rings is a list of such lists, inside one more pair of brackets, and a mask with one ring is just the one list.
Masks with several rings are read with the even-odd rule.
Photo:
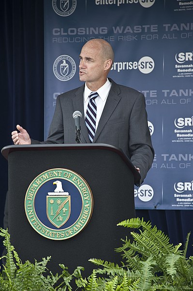
[[76, 0], [52, 0], [52, 7], [59, 16], [69, 16], [76, 9]]

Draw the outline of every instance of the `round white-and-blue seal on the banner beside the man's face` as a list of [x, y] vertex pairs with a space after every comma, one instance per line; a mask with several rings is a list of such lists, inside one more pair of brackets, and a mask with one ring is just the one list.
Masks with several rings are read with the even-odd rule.
[[60, 81], [69, 81], [74, 77], [76, 72], [76, 64], [68, 55], [59, 56], [53, 65], [53, 72]]

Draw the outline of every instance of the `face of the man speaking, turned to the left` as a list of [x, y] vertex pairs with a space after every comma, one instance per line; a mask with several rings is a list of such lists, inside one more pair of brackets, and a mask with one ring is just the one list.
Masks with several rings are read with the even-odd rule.
[[86, 43], [80, 53], [79, 78], [87, 83], [104, 80], [105, 61], [101, 47], [96, 43]]

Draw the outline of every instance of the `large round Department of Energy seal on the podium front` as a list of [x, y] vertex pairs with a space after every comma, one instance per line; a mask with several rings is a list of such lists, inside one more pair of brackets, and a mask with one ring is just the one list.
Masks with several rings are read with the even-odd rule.
[[66, 240], [89, 223], [93, 209], [87, 182], [68, 169], [50, 169], [28, 187], [25, 211], [30, 225], [51, 240]]

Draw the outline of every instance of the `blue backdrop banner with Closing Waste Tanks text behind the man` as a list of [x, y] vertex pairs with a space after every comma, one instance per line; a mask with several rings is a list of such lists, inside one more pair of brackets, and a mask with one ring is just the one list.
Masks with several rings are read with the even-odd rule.
[[193, 207], [193, 1], [45, 0], [45, 138], [59, 94], [79, 81], [79, 53], [103, 38], [109, 77], [146, 98], [155, 158], [136, 209]]

